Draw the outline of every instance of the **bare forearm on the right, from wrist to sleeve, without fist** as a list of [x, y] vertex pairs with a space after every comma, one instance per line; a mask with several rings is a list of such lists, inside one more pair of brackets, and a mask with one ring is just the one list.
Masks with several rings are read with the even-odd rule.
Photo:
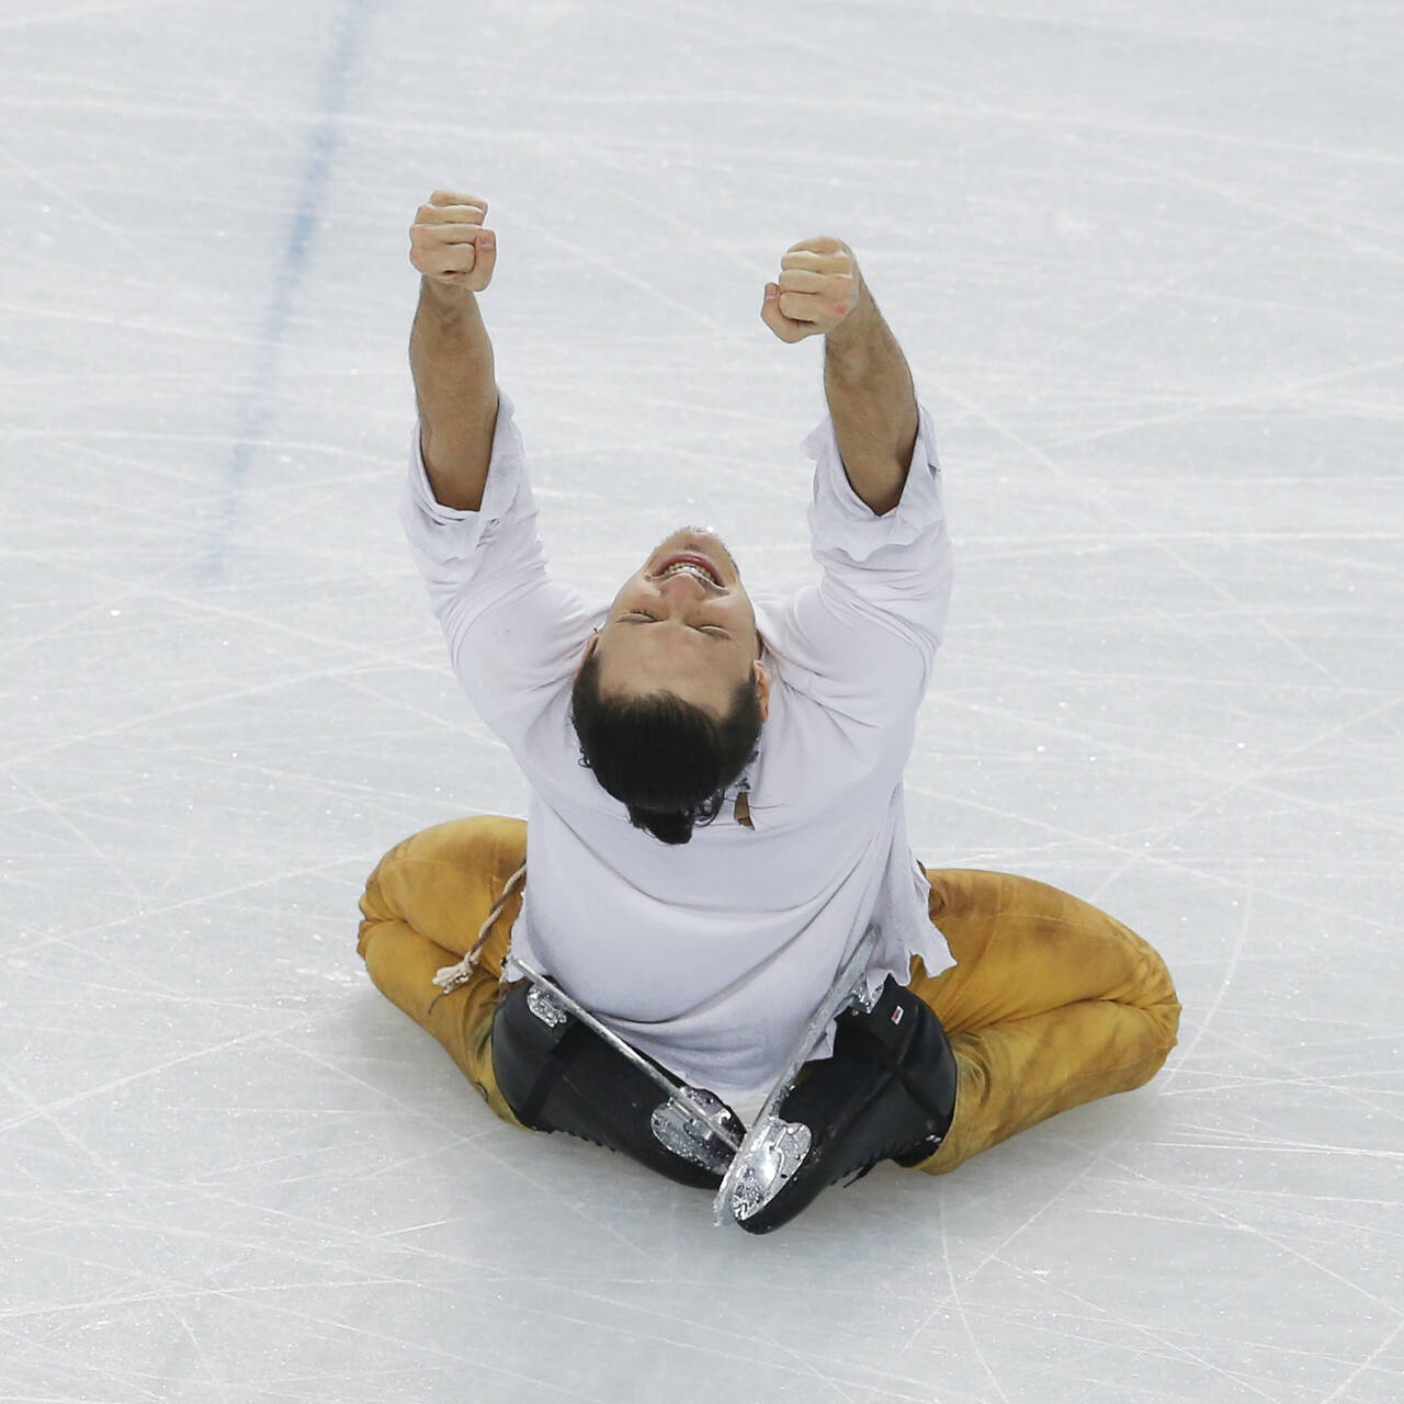
[[824, 397], [854, 491], [880, 517], [901, 498], [917, 444], [907, 358], [868, 289], [824, 337]]

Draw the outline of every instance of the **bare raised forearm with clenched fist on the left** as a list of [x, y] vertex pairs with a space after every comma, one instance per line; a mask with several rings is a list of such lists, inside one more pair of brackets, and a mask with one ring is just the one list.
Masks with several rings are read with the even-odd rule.
[[438, 190], [410, 226], [410, 263], [423, 274], [410, 331], [420, 448], [434, 496], [470, 511], [483, 504], [497, 427], [493, 343], [475, 296], [497, 260], [486, 215], [482, 199]]

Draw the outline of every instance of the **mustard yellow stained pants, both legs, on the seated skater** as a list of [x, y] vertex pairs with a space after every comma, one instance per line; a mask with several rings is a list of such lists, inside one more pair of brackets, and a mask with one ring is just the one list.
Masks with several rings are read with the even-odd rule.
[[[358, 945], [379, 990], [512, 1125], [519, 1122], [493, 1077], [491, 1026], [521, 897], [493, 922], [468, 984], [444, 995], [432, 977], [477, 939], [525, 851], [519, 819], [461, 819], [414, 834], [371, 875]], [[1028, 878], [967, 869], [927, 876], [931, 920], [956, 965], [929, 976], [914, 960], [911, 988], [951, 1036], [959, 1090], [951, 1130], [921, 1170], [955, 1170], [1054, 1112], [1140, 1087], [1158, 1071], [1175, 1046], [1179, 1002], [1164, 962], [1140, 936]]]

